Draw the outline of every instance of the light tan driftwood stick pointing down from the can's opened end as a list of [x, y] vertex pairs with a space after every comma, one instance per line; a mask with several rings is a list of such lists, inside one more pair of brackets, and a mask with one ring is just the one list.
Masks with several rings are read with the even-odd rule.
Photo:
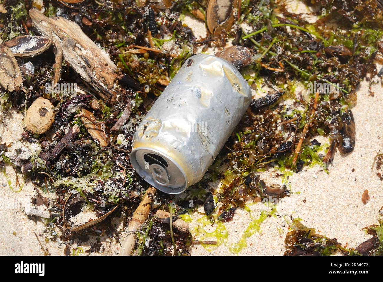
[[142, 224], [147, 220], [151, 208], [152, 195], [155, 193], [155, 188], [150, 187], [142, 198], [141, 203], [133, 213], [133, 217], [129, 222], [128, 236], [125, 237], [121, 245], [119, 256], [131, 256], [134, 245], [136, 244], [135, 231], [140, 229]]

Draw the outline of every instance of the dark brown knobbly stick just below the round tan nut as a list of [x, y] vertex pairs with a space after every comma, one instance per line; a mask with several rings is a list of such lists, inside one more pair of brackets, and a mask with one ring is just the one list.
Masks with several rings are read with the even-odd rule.
[[[52, 160], [55, 160], [61, 155], [62, 150], [64, 150], [65, 148], [65, 145], [73, 141], [79, 132], [80, 132], [80, 127], [76, 124], [73, 125], [73, 127], [69, 129], [69, 132], [64, 137], [62, 137], [59, 143], [57, 143], [57, 145], [54, 146], [51, 151], [43, 152], [39, 154], [39, 158], [41, 158], [41, 160], [43, 160], [47, 165], [49, 165], [49, 163]], [[30, 172], [34, 166], [36, 166], [36, 163], [31, 163], [31, 162], [26, 163], [25, 165], [21, 167], [21, 172], [22, 173]]]

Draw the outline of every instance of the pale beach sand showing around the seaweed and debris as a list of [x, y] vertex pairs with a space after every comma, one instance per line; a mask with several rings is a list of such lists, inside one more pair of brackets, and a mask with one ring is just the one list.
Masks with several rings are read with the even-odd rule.
[[[190, 19], [186, 19], [190, 21]], [[188, 23], [202, 28], [201, 24]], [[203, 26], [203, 28], [205, 28]], [[198, 37], [204, 37], [204, 31], [198, 31]], [[217, 50], [212, 48], [211, 53]], [[210, 53], [208, 51], [208, 53]], [[380, 69], [380, 68], [379, 68]], [[383, 112], [383, 96], [381, 95], [382, 86], [380, 82], [372, 86], [375, 96], [368, 95], [368, 83], [363, 82], [357, 91], [357, 106], [352, 109], [356, 124], [356, 145], [352, 153], [340, 156], [336, 153], [334, 162], [330, 165], [329, 171], [322, 171], [319, 167], [295, 173], [288, 180], [288, 188], [293, 192], [290, 197], [282, 199], [277, 204], [276, 214], [279, 216], [268, 217], [260, 224], [261, 231], [255, 232], [247, 238], [247, 247], [240, 254], [243, 255], [282, 255], [285, 252], [284, 239], [288, 232], [290, 218], [301, 218], [302, 223], [310, 228], [316, 228], [319, 234], [330, 238], [337, 238], [344, 246], [356, 247], [365, 241], [370, 235], [360, 231], [363, 227], [376, 223], [378, 220], [378, 210], [383, 205], [383, 182], [376, 176], [376, 171], [371, 169], [373, 158], [382, 150], [383, 126], [380, 113]], [[2, 118], [2, 117], [0, 117]], [[23, 131], [23, 116], [16, 112], [5, 119], [6, 125], [0, 130], [1, 142], [14, 142], [21, 139]], [[352, 172], [352, 169], [355, 169]], [[26, 181], [20, 192], [12, 191], [8, 185], [15, 188], [15, 172], [11, 167], [7, 167], [7, 177], [0, 174], [0, 246], [3, 254], [15, 255], [42, 255], [43, 251], [39, 245], [34, 232], [39, 236], [39, 240], [44, 248], [49, 249], [52, 255], [62, 255], [65, 242], [49, 241], [46, 243], [44, 234], [46, 230], [43, 221], [36, 223], [26, 216], [23, 205], [16, 204], [13, 208], [4, 207], [5, 203], [12, 201], [30, 201], [36, 196], [33, 185]], [[280, 179], [273, 178], [273, 173], [262, 173], [262, 178], [267, 183], [280, 183]], [[23, 178], [19, 175], [20, 183]], [[370, 201], [363, 204], [361, 196], [367, 189]], [[43, 192], [41, 192], [43, 194]], [[46, 195], [52, 197], [54, 195]], [[305, 200], [305, 202], [304, 202]], [[270, 209], [262, 203], [249, 204], [252, 218], [259, 217], [260, 211]], [[201, 208], [200, 211], [203, 209]], [[196, 219], [201, 215], [194, 214], [195, 218], [190, 224], [191, 230], [199, 223]], [[237, 243], [242, 233], [252, 221], [250, 214], [243, 209], [237, 209], [231, 222], [224, 223], [228, 231], [228, 242], [225, 242], [213, 251], [207, 251], [203, 246], [196, 245], [191, 247], [193, 255], [227, 255], [233, 254], [228, 247]], [[121, 228], [121, 219], [115, 219], [118, 229]], [[216, 226], [205, 228], [213, 231]], [[278, 228], [278, 229], [277, 229]], [[57, 230], [59, 231], [59, 230]], [[13, 235], [13, 232], [16, 235]], [[49, 236], [48, 236], [49, 237]], [[72, 249], [81, 245], [83, 251], [88, 249], [94, 242], [95, 237], [91, 237], [88, 242], [75, 242]], [[198, 237], [197, 237], [198, 239]], [[213, 238], [214, 239], [214, 238]], [[208, 240], [208, 239], [206, 239]], [[115, 244], [115, 239], [106, 236], [101, 237], [104, 248], [103, 254], [116, 254], [119, 245]], [[111, 243], [111, 244], [110, 244]]]

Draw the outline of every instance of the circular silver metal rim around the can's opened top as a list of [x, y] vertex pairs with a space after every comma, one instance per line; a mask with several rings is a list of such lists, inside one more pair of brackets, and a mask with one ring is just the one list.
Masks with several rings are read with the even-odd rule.
[[[152, 176], [149, 175], [149, 173], [147, 173], [137, 162], [136, 152], [138, 150], [147, 150], [148, 153], [149, 152], [157, 153], [157, 154], [167, 158], [168, 160], [170, 160], [182, 173], [183, 177], [185, 178], [185, 185], [177, 187], [177, 188], [172, 188], [172, 187], [167, 187], [167, 186], [162, 186], [162, 185], [157, 184], [153, 180]], [[180, 167], [180, 165], [173, 158], [169, 157], [169, 155], [167, 155], [167, 153], [165, 153], [161, 150], [157, 150], [157, 149], [154, 149], [151, 147], [137, 147], [137, 148], [134, 148], [132, 150], [132, 152], [130, 153], [129, 160], [130, 160], [130, 163], [133, 165], [133, 168], [136, 170], [136, 172], [139, 174], [139, 176], [141, 176], [142, 179], [144, 179], [147, 183], [152, 185], [154, 188], [157, 188], [158, 190], [160, 190], [164, 193], [177, 195], [177, 194], [184, 192], [188, 186], [187, 177], [186, 177], [186, 174], [183, 171], [182, 167]]]

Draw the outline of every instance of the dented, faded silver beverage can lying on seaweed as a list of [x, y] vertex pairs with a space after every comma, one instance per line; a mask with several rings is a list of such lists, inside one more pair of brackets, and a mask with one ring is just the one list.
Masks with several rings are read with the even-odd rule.
[[201, 180], [251, 99], [246, 80], [228, 61], [190, 57], [137, 127], [131, 164], [160, 191], [182, 193]]

